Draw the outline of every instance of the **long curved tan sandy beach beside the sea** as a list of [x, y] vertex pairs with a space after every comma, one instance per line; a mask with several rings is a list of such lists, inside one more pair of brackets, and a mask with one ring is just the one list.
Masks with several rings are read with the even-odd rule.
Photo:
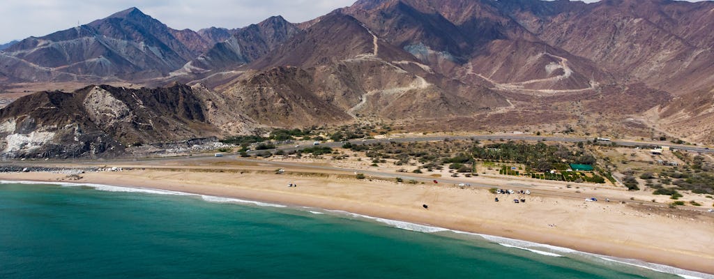
[[526, 203], [513, 203], [516, 195], [498, 195], [495, 202], [496, 195], [482, 188], [329, 173], [132, 170], [81, 176], [69, 181], [61, 173], [0, 173], [10, 181], [99, 183], [343, 210], [714, 274], [714, 213], [702, 211], [536, 194], [522, 196]]

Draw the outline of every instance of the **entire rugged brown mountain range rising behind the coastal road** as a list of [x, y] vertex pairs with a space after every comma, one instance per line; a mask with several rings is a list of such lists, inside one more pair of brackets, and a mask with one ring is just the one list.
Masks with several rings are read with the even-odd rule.
[[[413, 131], [574, 130], [712, 143], [713, 30], [713, 1], [360, 0], [298, 24], [273, 16], [199, 31], [131, 8], [12, 44], [0, 51], [0, 81], [159, 88], [19, 98], [1, 111], [0, 136], [58, 135], [74, 125], [126, 146], [391, 121]], [[97, 93], [88, 92], [100, 89], [114, 100], [105, 105], [127, 111], [89, 108]], [[179, 91], [183, 103], [158, 98], [166, 108], [143, 111], [156, 92]], [[193, 113], [169, 108], [179, 105]], [[59, 111], [18, 109], [26, 106]], [[143, 132], [137, 123], [154, 116], [166, 120]], [[23, 124], [30, 118], [34, 126]], [[8, 142], [15, 156], [47, 149], [10, 150]]]

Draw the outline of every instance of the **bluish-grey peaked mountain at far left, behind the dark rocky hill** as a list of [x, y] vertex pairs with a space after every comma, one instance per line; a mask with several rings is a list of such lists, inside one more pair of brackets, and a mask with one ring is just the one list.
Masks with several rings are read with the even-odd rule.
[[0, 72], [17, 81], [156, 78], [181, 68], [206, 44], [193, 31], [169, 29], [131, 8], [90, 24], [24, 39], [0, 54]]

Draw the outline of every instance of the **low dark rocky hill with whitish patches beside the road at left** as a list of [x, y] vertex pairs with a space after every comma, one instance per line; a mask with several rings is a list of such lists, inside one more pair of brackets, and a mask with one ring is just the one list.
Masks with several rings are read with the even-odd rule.
[[12, 157], [111, 156], [127, 144], [214, 136], [204, 111], [183, 85], [39, 92], [0, 110], [0, 148]]

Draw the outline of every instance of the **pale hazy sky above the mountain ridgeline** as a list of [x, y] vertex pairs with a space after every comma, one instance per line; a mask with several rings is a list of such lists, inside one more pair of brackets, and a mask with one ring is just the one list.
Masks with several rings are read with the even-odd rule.
[[[132, 6], [173, 29], [238, 28], [269, 16], [302, 22], [356, 0], [3, 0], [0, 44], [88, 24]], [[586, 2], [594, 2], [588, 0]]]

